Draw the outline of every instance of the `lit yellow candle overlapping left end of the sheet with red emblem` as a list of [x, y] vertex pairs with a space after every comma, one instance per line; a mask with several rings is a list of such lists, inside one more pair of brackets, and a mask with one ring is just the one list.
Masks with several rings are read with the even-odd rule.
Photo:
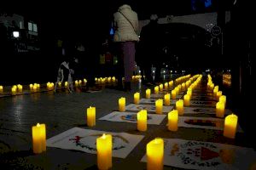
[[164, 161], [164, 140], [156, 138], [147, 144], [147, 170], [162, 170]]

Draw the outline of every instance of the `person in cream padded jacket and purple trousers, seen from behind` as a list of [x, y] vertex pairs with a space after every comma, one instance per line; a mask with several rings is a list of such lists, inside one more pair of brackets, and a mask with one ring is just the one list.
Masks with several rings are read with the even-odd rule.
[[[128, 4], [123, 4], [113, 14], [113, 26], [116, 30], [113, 42], [119, 42], [119, 65], [123, 65], [125, 75], [125, 90], [131, 90], [131, 77], [135, 70], [136, 42], [138, 37], [137, 13]], [[120, 74], [121, 75], [121, 74]], [[118, 77], [119, 88], [122, 87], [122, 77]]]

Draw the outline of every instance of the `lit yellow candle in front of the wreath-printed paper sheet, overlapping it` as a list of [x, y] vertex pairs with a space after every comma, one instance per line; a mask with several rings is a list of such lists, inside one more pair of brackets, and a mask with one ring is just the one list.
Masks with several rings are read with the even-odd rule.
[[96, 139], [97, 167], [107, 170], [112, 167], [112, 136], [103, 135]]

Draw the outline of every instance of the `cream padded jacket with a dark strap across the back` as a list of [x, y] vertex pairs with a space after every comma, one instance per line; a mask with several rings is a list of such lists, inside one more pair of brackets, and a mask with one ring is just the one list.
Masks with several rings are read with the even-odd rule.
[[[120, 14], [121, 12], [122, 14]], [[114, 42], [126, 42], [126, 41], [139, 41], [138, 33], [138, 18], [137, 13], [131, 10], [129, 5], [122, 5], [119, 7], [119, 12], [113, 14], [114, 23], [113, 25], [117, 27], [117, 30], [114, 33], [113, 41]], [[130, 22], [125, 19], [123, 14]]]

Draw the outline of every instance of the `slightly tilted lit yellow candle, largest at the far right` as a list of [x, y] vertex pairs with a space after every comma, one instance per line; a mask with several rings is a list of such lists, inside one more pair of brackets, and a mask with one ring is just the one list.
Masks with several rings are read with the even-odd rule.
[[236, 125], [238, 116], [231, 114], [225, 117], [224, 121], [224, 136], [230, 139], [235, 139]]

